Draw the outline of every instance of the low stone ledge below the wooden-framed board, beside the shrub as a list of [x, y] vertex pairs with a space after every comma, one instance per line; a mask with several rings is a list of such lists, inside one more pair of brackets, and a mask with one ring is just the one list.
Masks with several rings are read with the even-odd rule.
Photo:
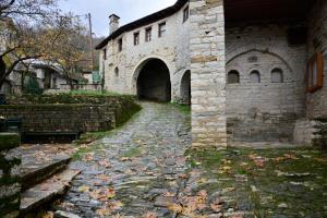
[[301, 119], [294, 128], [294, 143], [327, 148], [327, 119]]

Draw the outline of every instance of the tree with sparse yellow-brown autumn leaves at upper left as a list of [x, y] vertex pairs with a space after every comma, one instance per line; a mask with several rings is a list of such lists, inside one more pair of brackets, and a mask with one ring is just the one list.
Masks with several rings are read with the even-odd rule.
[[17, 64], [28, 59], [58, 61], [70, 71], [78, 57], [72, 39], [81, 26], [75, 16], [58, 10], [57, 0], [1, 0], [0, 88]]

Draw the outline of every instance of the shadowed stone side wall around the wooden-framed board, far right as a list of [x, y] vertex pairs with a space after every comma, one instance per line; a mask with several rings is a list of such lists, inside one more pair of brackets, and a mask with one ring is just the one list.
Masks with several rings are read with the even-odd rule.
[[317, 0], [308, 15], [307, 60], [315, 52], [324, 53], [324, 87], [307, 94], [307, 118], [327, 117], [327, 1]]

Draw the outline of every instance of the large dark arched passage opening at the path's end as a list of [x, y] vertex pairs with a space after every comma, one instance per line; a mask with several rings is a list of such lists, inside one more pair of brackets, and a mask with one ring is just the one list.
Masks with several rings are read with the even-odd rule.
[[137, 96], [160, 102], [171, 100], [170, 74], [164, 61], [152, 59], [143, 65], [137, 77]]

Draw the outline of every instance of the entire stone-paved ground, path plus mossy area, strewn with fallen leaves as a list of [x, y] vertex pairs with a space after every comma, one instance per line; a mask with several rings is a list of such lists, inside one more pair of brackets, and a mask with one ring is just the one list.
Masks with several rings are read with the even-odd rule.
[[39, 216], [327, 216], [326, 150], [269, 143], [194, 150], [187, 108], [142, 107], [102, 140], [66, 149], [81, 173]]

